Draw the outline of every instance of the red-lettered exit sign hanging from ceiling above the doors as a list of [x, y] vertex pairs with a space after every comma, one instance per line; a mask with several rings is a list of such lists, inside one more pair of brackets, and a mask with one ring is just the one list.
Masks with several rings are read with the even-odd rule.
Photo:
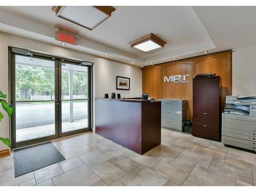
[[58, 29], [58, 28], [56, 29], [56, 33], [55, 33], [56, 40], [76, 46], [77, 45], [77, 37], [78, 37], [78, 35], [76, 35], [72, 32]]

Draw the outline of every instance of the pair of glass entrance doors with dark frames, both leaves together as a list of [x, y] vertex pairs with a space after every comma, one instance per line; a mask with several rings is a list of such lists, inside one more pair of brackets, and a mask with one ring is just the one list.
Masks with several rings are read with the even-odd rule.
[[91, 130], [91, 68], [11, 53], [12, 148]]

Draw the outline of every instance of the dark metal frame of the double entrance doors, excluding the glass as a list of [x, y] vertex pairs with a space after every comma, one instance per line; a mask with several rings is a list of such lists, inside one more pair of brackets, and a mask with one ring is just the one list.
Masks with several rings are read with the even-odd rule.
[[[9, 53], [9, 102], [11, 105], [15, 107], [15, 55], [21, 55], [30, 57], [28, 55], [22, 54], [22, 53], [14, 53], [12, 52], [12, 47], [8, 47], [8, 53]], [[45, 60], [53, 60], [54, 59], [54, 67], [55, 67], [55, 100], [52, 100], [55, 102], [55, 135], [41, 137], [41, 138], [35, 138], [30, 139], [26, 141], [16, 142], [16, 110], [14, 110], [11, 117], [9, 117], [9, 138], [11, 140], [11, 150], [14, 148], [24, 147], [28, 145], [33, 145], [37, 143], [42, 143], [46, 141], [50, 141], [53, 139], [66, 137], [70, 135], [75, 135], [78, 133], [83, 133], [87, 131], [92, 131], [92, 64], [88, 65], [88, 127], [85, 127], [84, 129], [79, 129], [71, 132], [61, 133], [61, 62], [65, 61], [67, 63], [73, 63], [74, 65], [81, 64], [81, 61], [67, 59], [67, 58], [61, 58], [61, 57], [55, 57], [51, 55], [36, 53], [33, 53], [33, 58], [38, 59], [45, 59]], [[59, 78], [60, 76], [60, 78]], [[19, 102], [31, 102], [31, 101], [19, 101]], [[33, 102], [33, 101], [32, 101]], [[35, 101], [36, 102], [36, 101]]]

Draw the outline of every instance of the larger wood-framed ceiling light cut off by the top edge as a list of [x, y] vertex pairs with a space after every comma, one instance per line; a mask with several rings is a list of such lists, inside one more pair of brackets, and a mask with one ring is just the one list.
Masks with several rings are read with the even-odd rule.
[[111, 6], [53, 6], [52, 10], [58, 17], [92, 30], [116, 9]]

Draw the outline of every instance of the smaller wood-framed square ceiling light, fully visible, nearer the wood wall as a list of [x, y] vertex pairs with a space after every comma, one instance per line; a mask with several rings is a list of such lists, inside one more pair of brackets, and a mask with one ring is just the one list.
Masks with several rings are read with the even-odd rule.
[[164, 47], [166, 42], [155, 34], [150, 33], [129, 42], [129, 44], [132, 48], [146, 53]]

